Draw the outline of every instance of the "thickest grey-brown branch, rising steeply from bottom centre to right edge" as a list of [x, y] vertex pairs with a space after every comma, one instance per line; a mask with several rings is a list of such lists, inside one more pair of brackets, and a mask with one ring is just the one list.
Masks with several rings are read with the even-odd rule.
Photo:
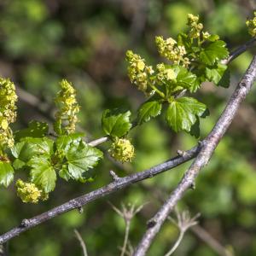
[[166, 202], [160, 207], [160, 210], [154, 215], [154, 217], [148, 222], [148, 230], [146, 230], [142, 240], [137, 246], [134, 256], [143, 256], [148, 251], [154, 237], [160, 231], [161, 225], [164, 223], [170, 212], [177, 205], [185, 191], [194, 186], [195, 177], [201, 171], [201, 168], [207, 165], [207, 162], [212, 157], [212, 153], [217, 147], [220, 139], [224, 136], [225, 132], [229, 128], [231, 121], [234, 119], [237, 109], [239, 108], [241, 101], [247, 96], [247, 93], [252, 87], [253, 81], [256, 78], [256, 55], [253, 57], [253, 61], [248, 67], [247, 72], [244, 74], [241, 82], [237, 85], [236, 90], [230, 97], [230, 101], [227, 103], [224, 112], [218, 119], [217, 124], [213, 127], [210, 134], [202, 143], [202, 148], [199, 154], [197, 154], [194, 162], [185, 172], [183, 179], [177, 185], [177, 188], [172, 192]]

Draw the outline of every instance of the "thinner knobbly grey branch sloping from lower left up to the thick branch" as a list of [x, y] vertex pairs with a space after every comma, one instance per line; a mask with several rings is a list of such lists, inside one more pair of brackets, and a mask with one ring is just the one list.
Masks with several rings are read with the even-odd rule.
[[112, 183], [108, 183], [108, 185], [100, 189], [96, 189], [88, 194], [81, 195], [71, 201], [67, 201], [61, 206], [55, 207], [49, 210], [48, 212], [44, 212], [33, 218], [24, 219], [22, 220], [19, 226], [15, 227], [12, 230], [9, 230], [7, 233], [0, 236], [0, 244], [9, 241], [10, 239], [20, 235], [20, 233], [26, 230], [32, 229], [38, 224], [44, 223], [50, 218], [54, 218], [58, 215], [61, 215], [64, 212], [68, 212], [76, 208], [81, 208], [84, 205], [88, 204], [90, 201], [95, 201], [96, 199], [101, 198], [105, 195], [112, 194], [113, 192], [116, 192], [120, 189], [124, 189], [125, 187], [131, 185], [132, 183], [137, 183], [139, 181], [142, 181], [143, 179], [154, 177], [155, 175], [158, 175], [161, 172], [166, 172], [167, 170], [179, 166], [184, 162], [193, 159], [195, 155], [199, 153], [200, 149], [201, 144], [199, 146], [195, 146], [194, 148], [189, 149], [188, 151], [186, 151], [186, 154], [183, 154], [183, 156], [177, 155], [171, 160], [167, 160], [166, 162], [158, 166], [149, 168], [148, 170], [145, 170], [143, 172], [137, 172], [126, 177], [119, 177], [117, 180], [113, 181]]

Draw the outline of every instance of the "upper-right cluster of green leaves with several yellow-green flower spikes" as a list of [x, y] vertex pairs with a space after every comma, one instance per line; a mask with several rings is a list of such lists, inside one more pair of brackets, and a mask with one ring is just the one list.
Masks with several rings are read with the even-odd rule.
[[198, 16], [188, 15], [187, 24], [189, 32], [179, 33], [177, 40], [155, 38], [158, 51], [167, 59], [167, 64], [159, 63], [154, 70], [131, 50], [127, 51], [126, 60], [131, 83], [149, 96], [138, 109], [137, 124], [159, 115], [166, 104], [166, 121], [172, 130], [187, 131], [199, 137], [199, 117], [207, 115], [207, 106], [183, 95], [186, 91], [195, 93], [207, 81], [228, 87], [230, 74], [222, 60], [229, 52], [218, 35], [202, 31]]

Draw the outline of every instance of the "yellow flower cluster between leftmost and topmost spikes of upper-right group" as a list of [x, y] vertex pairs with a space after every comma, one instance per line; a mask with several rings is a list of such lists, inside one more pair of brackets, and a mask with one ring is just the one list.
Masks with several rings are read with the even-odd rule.
[[177, 45], [173, 38], [155, 37], [155, 44], [161, 56], [167, 60], [172, 61], [174, 64], [179, 64], [181, 61], [189, 63], [188, 58], [183, 58], [186, 55], [186, 49], [183, 45]]

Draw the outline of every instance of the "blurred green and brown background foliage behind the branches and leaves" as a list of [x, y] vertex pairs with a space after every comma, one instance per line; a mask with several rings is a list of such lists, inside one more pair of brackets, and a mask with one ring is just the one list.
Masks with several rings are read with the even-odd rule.
[[[245, 43], [249, 36], [245, 20], [256, 9], [244, 0], [1, 0], [0, 74], [19, 86], [19, 120], [25, 127], [30, 119], [52, 122], [53, 97], [62, 78], [78, 90], [81, 126], [88, 137], [102, 137], [102, 110], [131, 108], [135, 113], [143, 94], [126, 75], [125, 51], [133, 49], [152, 64], [159, 61], [154, 36], [175, 37], [186, 30], [188, 13], [199, 14], [206, 29], [218, 33], [230, 49]], [[255, 49], [254, 49], [255, 53]], [[218, 119], [253, 56], [253, 49], [231, 63], [230, 89], [204, 86], [196, 96], [207, 103], [210, 117], [201, 122], [205, 137]], [[26, 94], [26, 92], [30, 94]], [[256, 255], [256, 89], [243, 103], [230, 130], [219, 144], [207, 168], [201, 172], [196, 189], [189, 191], [179, 207], [191, 215], [201, 212], [199, 223], [224, 247], [236, 255]], [[33, 96], [36, 96], [33, 97]], [[59, 180], [49, 201], [23, 204], [14, 186], [0, 189], [0, 232], [23, 218], [30, 218], [51, 207], [110, 182], [109, 170], [119, 176], [139, 172], [176, 154], [177, 148], [195, 145], [193, 137], [174, 134], [162, 119], [137, 127], [131, 132], [136, 158], [131, 166], [113, 165], [106, 158], [96, 167], [93, 183]], [[78, 229], [90, 256], [119, 255], [125, 224], [109, 206], [121, 202], [137, 206], [148, 202], [131, 222], [131, 244], [143, 236], [146, 221], [160, 207], [160, 198], [177, 185], [189, 165], [179, 166], [143, 184], [135, 184], [84, 207], [84, 213], [67, 212], [28, 230], [9, 241], [9, 255], [82, 255], [73, 230]], [[166, 222], [150, 248], [149, 256], [163, 255], [176, 241], [178, 230]], [[188, 231], [174, 255], [218, 255], [198, 236]]]

